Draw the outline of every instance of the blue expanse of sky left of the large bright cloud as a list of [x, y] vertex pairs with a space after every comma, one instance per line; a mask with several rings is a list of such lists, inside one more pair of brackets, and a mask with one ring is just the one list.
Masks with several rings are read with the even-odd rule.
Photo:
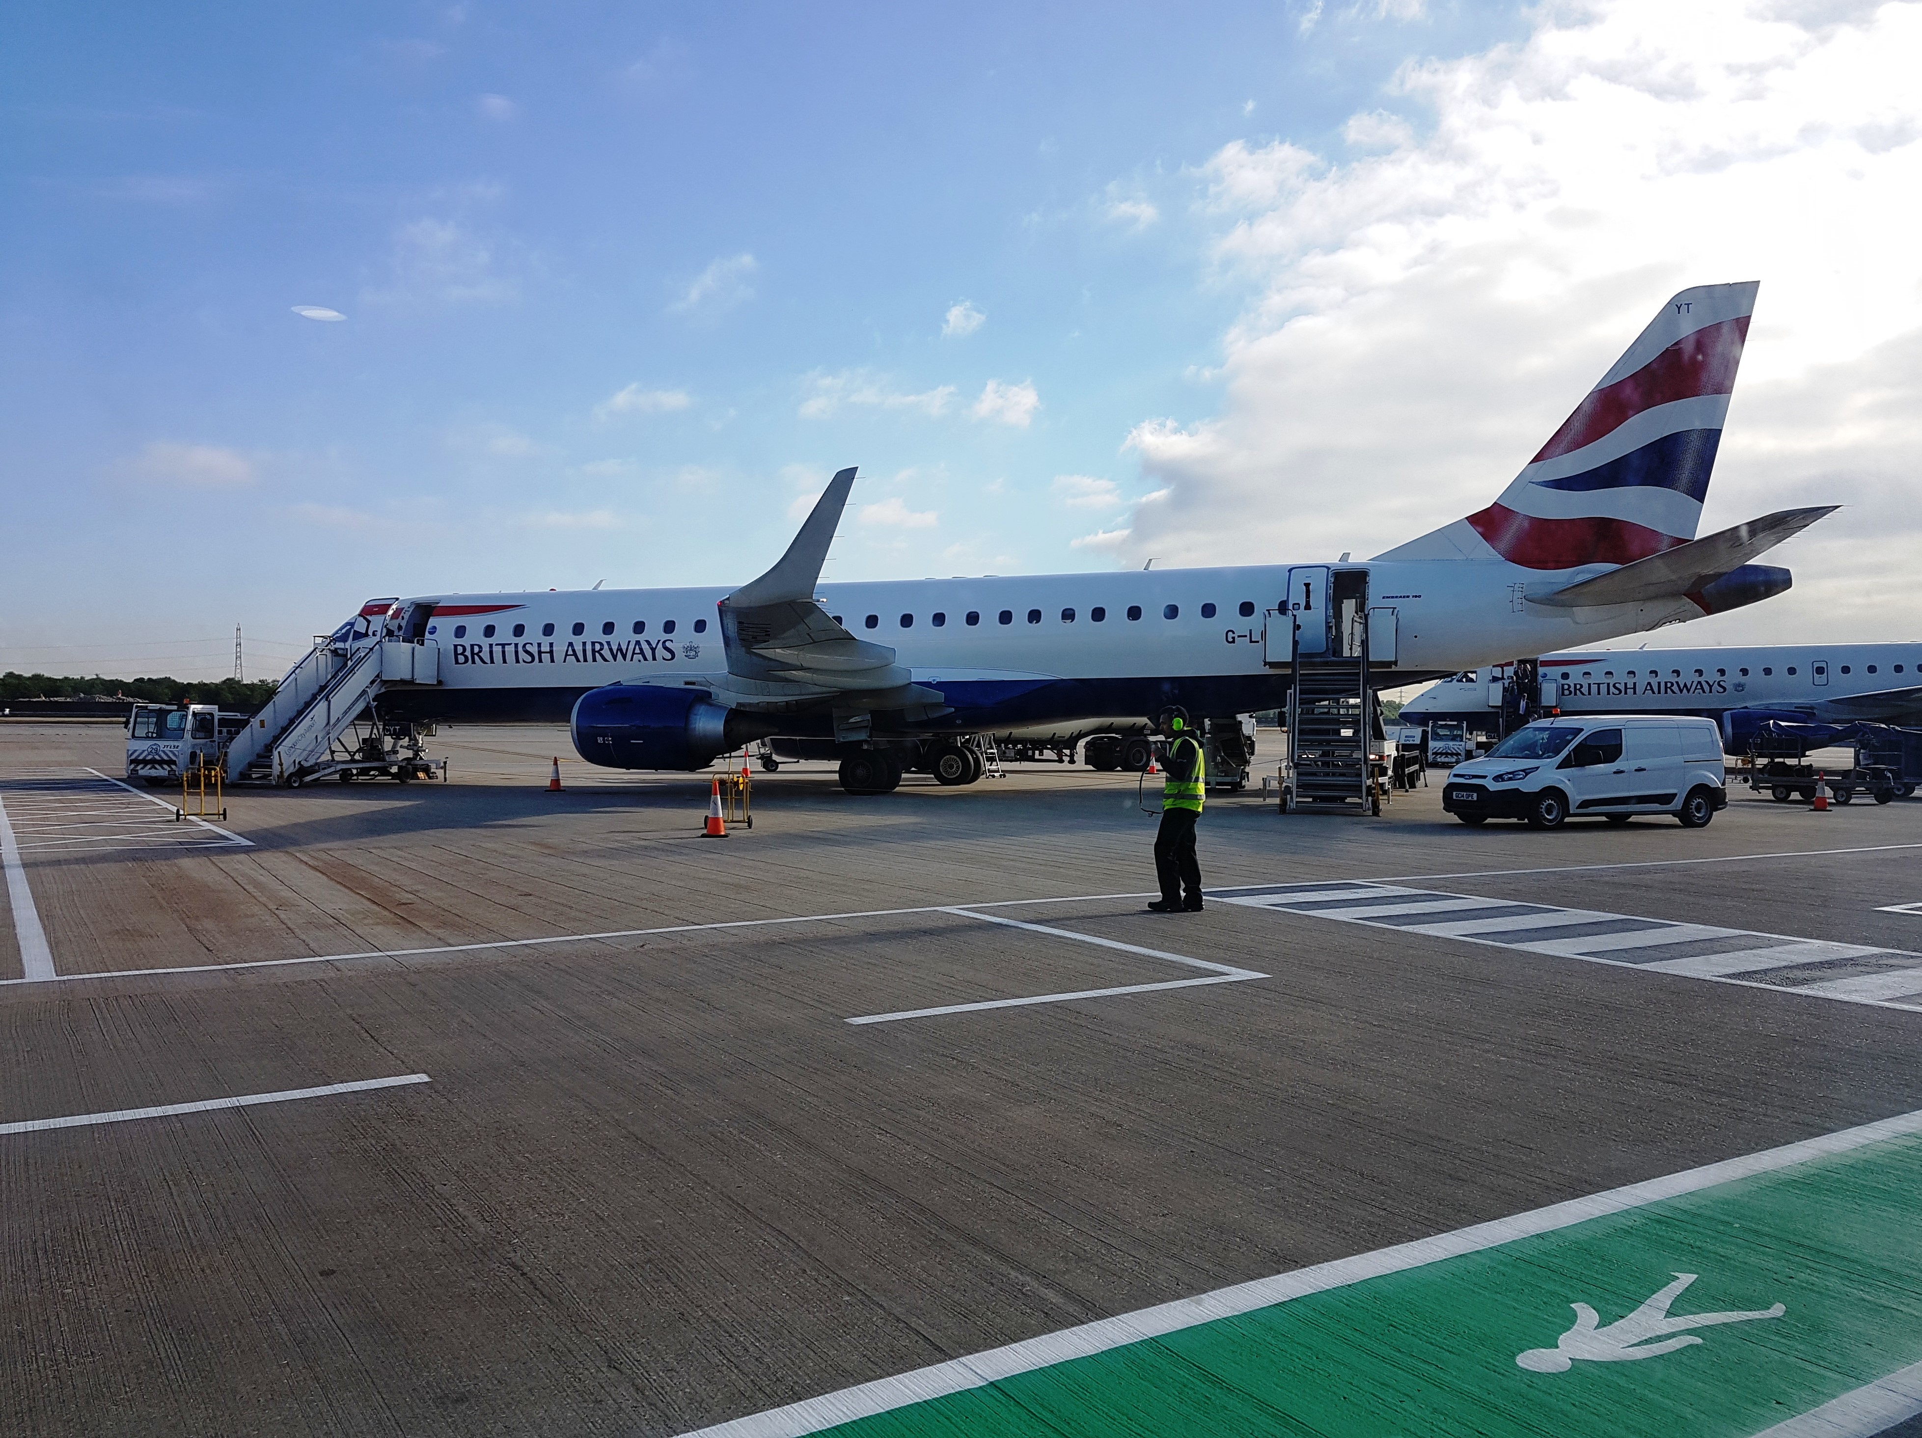
[[1122, 442], [1217, 408], [1249, 296], [1197, 167], [1515, 23], [10, 6], [0, 665], [746, 579], [844, 463], [836, 577], [1111, 567]]

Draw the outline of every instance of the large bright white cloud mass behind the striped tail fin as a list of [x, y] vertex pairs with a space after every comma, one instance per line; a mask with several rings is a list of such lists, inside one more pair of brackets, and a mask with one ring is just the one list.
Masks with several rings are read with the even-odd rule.
[[[1351, 136], [1393, 148], [1234, 142], [1209, 161], [1217, 263], [1257, 298], [1224, 338], [1220, 413], [1128, 436], [1170, 490], [1138, 513], [1132, 558], [1372, 554], [1468, 513], [1668, 294], [1743, 279], [1762, 290], [1703, 533], [1857, 509], [1787, 546], [1797, 588], [1739, 615], [1776, 634], [1816, 615], [1855, 583], [1851, 531], [1914, 544], [1922, 6], [1526, 13], [1520, 42], [1401, 71], [1434, 117], [1420, 138], [1357, 117]], [[1878, 609], [1882, 629], [1916, 619], [1907, 590]]]

